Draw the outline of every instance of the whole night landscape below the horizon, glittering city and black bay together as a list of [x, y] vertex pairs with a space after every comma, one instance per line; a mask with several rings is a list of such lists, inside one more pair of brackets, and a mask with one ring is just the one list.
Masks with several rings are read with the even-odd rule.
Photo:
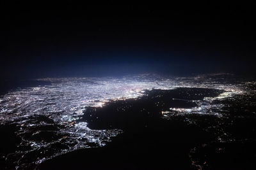
[[[35, 80], [34, 80], [35, 81]], [[47, 78], [1, 96], [1, 168], [255, 169], [255, 81]]]

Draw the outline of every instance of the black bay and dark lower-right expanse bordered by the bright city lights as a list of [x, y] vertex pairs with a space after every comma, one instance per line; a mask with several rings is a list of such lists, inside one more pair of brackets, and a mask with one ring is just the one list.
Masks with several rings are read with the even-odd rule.
[[[111, 101], [88, 108], [80, 121], [91, 129], [122, 129], [102, 148], [60, 155], [37, 169], [255, 169], [255, 96], [234, 96], [221, 117], [168, 113], [169, 108], [195, 108], [195, 101], [223, 90], [151, 90], [138, 99]], [[215, 108], [216, 109], [216, 108]]]

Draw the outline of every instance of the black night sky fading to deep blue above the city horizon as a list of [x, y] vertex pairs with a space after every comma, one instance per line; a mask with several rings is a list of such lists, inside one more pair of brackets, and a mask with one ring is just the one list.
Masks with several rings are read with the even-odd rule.
[[1, 4], [1, 76], [254, 73], [255, 4]]

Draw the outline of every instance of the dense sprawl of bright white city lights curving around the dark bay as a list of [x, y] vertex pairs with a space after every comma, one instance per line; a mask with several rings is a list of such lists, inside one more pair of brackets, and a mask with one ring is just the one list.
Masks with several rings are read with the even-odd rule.
[[[110, 100], [136, 98], [143, 95], [144, 90], [151, 89], [175, 89], [177, 87], [202, 87], [223, 89], [228, 92], [221, 94], [219, 99], [230, 97], [233, 94], [243, 92], [238, 85], [220, 83], [208, 80], [207, 77], [191, 78], [162, 78], [157, 75], [141, 74], [138, 76], [125, 76], [123, 78], [45, 78], [40, 81], [48, 81], [49, 85], [17, 89], [0, 97], [0, 124], [17, 124], [20, 130], [17, 135], [26, 133], [31, 127], [40, 127], [45, 124], [35, 124], [36, 116], [44, 116], [54, 121], [56, 125], [62, 125], [63, 129], [57, 133], [66, 134], [65, 144], [76, 143], [76, 145], [61, 151], [56, 151], [51, 157], [67, 153], [78, 148], [90, 147], [87, 145], [95, 143], [104, 146], [111, 136], [116, 136], [120, 130], [109, 131], [92, 130], [86, 126], [86, 122], [77, 124], [79, 115], [83, 115], [86, 106], [102, 107]], [[215, 99], [217, 99], [216, 97]], [[171, 111], [179, 113], [209, 113], [209, 105], [212, 98], [198, 103], [196, 108], [170, 108], [163, 114]], [[217, 107], [217, 106], [215, 106]], [[220, 107], [220, 106], [218, 106]], [[104, 138], [104, 140], [103, 140]], [[22, 139], [22, 145], [33, 146], [32, 149], [19, 151], [17, 153], [35, 152], [38, 148], [50, 150], [50, 145], [58, 143], [60, 139], [51, 143], [35, 142]], [[38, 156], [35, 162], [42, 162], [49, 157]]]

